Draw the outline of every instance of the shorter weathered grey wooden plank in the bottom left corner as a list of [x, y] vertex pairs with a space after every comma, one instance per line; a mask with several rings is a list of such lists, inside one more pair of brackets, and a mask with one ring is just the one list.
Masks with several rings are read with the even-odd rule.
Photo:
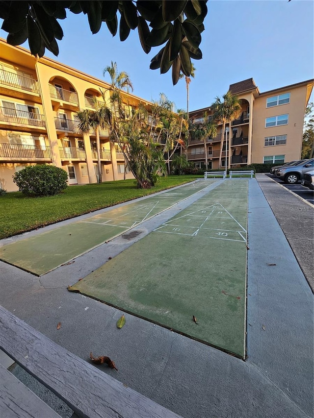
[[60, 418], [35, 393], [0, 365], [1, 418]]

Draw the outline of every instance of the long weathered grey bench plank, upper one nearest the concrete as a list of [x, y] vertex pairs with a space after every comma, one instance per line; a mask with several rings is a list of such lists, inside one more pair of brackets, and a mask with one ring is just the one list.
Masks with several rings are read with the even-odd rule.
[[2, 307], [0, 349], [79, 417], [181, 418], [53, 343]]

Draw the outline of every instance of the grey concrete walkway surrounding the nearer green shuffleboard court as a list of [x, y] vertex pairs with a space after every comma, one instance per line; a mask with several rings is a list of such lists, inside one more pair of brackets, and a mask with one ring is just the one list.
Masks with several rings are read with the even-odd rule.
[[[83, 359], [109, 356], [119, 372], [108, 374], [184, 418], [313, 417], [313, 294], [302, 272], [311, 265], [299, 257], [301, 270], [274, 216], [281, 189], [264, 175], [249, 180], [246, 361], [132, 315], [117, 331], [119, 310], [67, 291], [195, 196], [142, 223], [133, 240], [120, 236], [41, 277], [1, 262], [0, 304]], [[303, 213], [292, 197], [286, 207]]]

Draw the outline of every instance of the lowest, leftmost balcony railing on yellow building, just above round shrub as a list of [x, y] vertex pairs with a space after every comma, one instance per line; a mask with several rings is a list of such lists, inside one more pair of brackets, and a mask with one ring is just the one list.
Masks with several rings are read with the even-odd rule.
[[0, 144], [0, 157], [52, 159], [50, 147], [23, 144]]

